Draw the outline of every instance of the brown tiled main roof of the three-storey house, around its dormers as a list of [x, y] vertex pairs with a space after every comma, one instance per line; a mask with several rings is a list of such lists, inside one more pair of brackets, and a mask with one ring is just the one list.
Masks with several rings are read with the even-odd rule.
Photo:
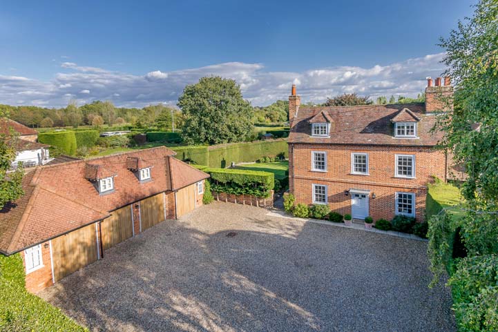
[[[394, 137], [392, 119], [403, 109], [420, 121], [417, 139]], [[325, 112], [333, 121], [329, 137], [312, 137], [309, 120]], [[405, 111], [406, 114], [408, 111]], [[403, 115], [404, 117], [404, 115]], [[425, 114], [425, 104], [392, 104], [334, 107], [300, 107], [289, 135], [289, 143], [372, 144], [396, 146], [435, 146], [443, 133], [431, 133], [436, 115]]]

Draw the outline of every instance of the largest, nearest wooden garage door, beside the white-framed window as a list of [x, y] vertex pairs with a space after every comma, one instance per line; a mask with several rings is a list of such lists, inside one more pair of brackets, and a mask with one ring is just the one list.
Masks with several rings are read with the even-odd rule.
[[97, 260], [95, 224], [52, 240], [52, 262], [55, 281]]

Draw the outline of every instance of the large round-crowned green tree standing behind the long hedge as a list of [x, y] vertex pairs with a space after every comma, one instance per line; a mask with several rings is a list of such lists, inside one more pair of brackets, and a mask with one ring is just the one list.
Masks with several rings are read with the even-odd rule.
[[252, 130], [253, 109], [233, 79], [202, 77], [186, 86], [178, 99], [187, 144], [244, 141]]

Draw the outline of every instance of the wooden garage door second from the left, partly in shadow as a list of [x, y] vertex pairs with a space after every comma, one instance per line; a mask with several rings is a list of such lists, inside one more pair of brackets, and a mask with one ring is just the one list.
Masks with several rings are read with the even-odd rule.
[[131, 206], [124, 206], [102, 221], [102, 246], [104, 251], [133, 236]]

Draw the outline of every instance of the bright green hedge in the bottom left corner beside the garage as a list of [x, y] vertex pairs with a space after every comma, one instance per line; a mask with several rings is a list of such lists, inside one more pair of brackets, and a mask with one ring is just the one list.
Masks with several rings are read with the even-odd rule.
[[21, 255], [0, 255], [0, 331], [88, 331], [24, 288]]

